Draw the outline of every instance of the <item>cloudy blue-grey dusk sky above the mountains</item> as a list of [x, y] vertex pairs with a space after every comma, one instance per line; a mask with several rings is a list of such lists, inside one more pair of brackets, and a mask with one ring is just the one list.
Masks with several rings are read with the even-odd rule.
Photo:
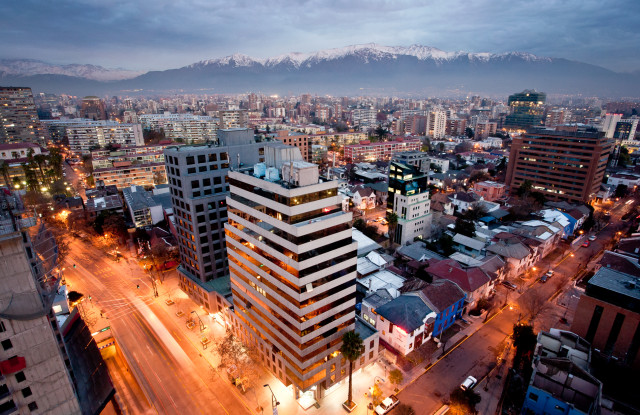
[[163, 70], [363, 43], [529, 52], [640, 70], [640, 0], [19, 0], [0, 58]]

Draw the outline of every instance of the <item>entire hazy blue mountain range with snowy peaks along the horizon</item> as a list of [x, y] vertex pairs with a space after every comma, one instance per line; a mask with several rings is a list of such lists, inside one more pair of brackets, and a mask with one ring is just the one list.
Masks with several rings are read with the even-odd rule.
[[35, 92], [161, 94], [167, 92], [332, 95], [505, 95], [537, 89], [556, 95], [640, 96], [640, 73], [530, 53], [445, 52], [412, 45], [347, 46], [272, 58], [234, 54], [164, 71], [140, 73], [95, 65], [0, 60], [0, 85]]

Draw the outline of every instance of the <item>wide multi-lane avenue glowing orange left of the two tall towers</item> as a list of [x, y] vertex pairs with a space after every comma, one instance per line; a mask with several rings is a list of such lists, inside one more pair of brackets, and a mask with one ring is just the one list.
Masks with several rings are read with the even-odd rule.
[[[211, 376], [199, 350], [181, 333], [160, 299], [154, 299], [150, 280], [135, 260], [116, 263], [77, 239], [70, 245], [67, 283], [91, 296], [91, 303], [108, 318], [118, 347], [151, 404], [148, 413], [252, 413], [226, 379]], [[145, 397], [135, 400], [128, 406], [143, 406]]]

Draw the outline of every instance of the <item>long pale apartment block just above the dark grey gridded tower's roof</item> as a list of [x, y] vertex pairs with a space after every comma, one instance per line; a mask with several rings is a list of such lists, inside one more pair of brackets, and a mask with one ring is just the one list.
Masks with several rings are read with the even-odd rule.
[[138, 117], [145, 130], [163, 131], [168, 140], [203, 144], [218, 139], [220, 120], [192, 114], [144, 114]]

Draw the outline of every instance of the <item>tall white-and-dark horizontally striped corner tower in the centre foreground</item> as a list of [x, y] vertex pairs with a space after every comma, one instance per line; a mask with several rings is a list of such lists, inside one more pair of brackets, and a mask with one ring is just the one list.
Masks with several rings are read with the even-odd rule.
[[361, 332], [375, 359], [377, 333], [356, 320], [357, 243], [341, 209], [337, 181], [297, 148], [266, 146], [266, 163], [229, 172], [225, 225], [235, 331], [258, 344], [267, 367], [294, 396], [315, 399], [347, 376], [344, 333]]

